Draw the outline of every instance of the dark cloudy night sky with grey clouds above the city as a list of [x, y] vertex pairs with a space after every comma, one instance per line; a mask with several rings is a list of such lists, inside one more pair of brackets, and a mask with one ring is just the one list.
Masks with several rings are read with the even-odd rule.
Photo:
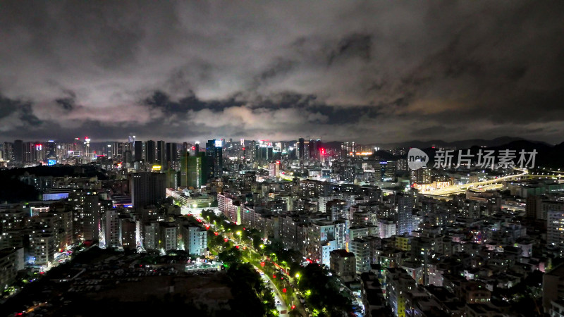
[[564, 141], [564, 1], [2, 1], [0, 140]]

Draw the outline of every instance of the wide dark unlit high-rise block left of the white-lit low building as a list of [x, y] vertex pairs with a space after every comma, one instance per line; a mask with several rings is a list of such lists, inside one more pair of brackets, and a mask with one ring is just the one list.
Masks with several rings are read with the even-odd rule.
[[166, 174], [142, 172], [130, 175], [129, 189], [134, 208], [156, 205], [166, 198]]

